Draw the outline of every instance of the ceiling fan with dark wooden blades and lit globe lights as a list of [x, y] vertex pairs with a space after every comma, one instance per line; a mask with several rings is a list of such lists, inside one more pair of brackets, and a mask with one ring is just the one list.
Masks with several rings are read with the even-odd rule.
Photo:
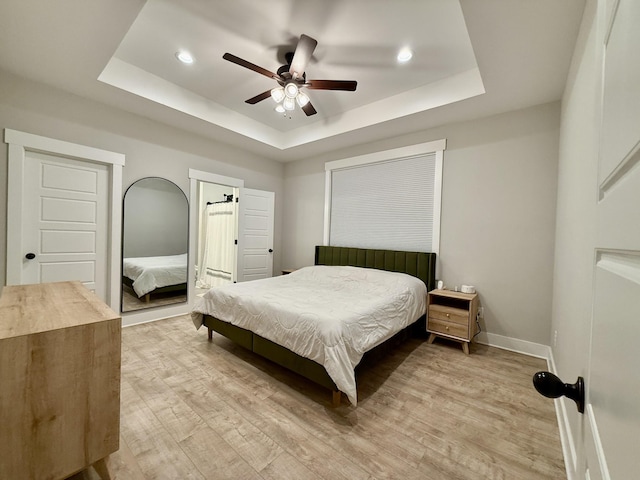
[[[358, 85], [358, 82], [355, 80], [307, 80], [305, 69], [307, 68], [309, 59], [313, 55], [316, 45], [318, 45], [318, 42], [315, 39], [304, 34], [300, 35], [295, 51], [286, 55], [288, 63], [281, 66], [277, 73], [270, 72], [265, 68], [254, 65], [230, 53], [225, 53], [222, 58], [260, 73], [265, 77], [272, 78], [280, 85], [279, 87], [262, 92], [249, 100], [245, 100], [246, 103], [254, 105], [266, 98], [272, 97], [279, 106], [282, 107], [280, 111], [294, 110], [295, 104], [297, 103], [302, 111], [307, 116], [310, 116], [318, 112], [313, 108], [313, 105], [311, 105], [308, 95], [302, 91], [303, 88], [308, 88], [309, 90], [345, 90], [353, 92]], [[280, 104], [280, 102], [282, 103]]]

